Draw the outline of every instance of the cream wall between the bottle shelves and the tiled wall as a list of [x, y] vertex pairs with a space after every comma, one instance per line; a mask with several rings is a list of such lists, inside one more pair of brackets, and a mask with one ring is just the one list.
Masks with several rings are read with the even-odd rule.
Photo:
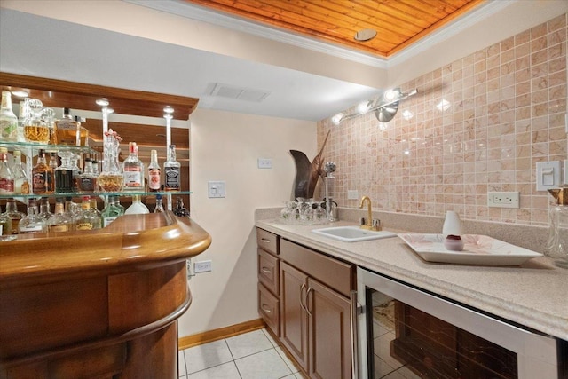
[[[254, 210], [291, 198], [290, 149], [317, 154], [316, 122], [199, 108], [190, 121], [192, 219], [213, 239], [194, 261], [212, 260], [213, 271], [190, 280], [193, 304], [179, 320], [179, 336], [259, 318]], [[272, 159], [272, 169], [257, 169], [257, 158]], [[208, 198], [209, 180], [226, 182], [224, 199]]]

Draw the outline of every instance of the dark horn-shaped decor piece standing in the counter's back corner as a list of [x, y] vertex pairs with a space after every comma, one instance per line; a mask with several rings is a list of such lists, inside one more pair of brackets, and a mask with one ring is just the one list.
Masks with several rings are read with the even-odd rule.
[[290, 150], [290, 154], [296, 162], [296, 181], [294, 183], [294, 198], [303, 197], [304, 199], [311, 199], [313, 192], [318, 184], [318, 179], [321, 176], [321, 166], [323, 165], [323, 149], [326, 146], [329, 132], [327, 131], [326, 139], [323, 141], [319, 154], [313, 158], [312, 163], [306, 156], [298, 150]]

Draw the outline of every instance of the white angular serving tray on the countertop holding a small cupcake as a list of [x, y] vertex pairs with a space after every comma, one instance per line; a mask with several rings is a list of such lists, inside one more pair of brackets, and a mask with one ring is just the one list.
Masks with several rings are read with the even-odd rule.
[[462, 251], [444, 247], [442, 234], [398, 234], [416, 254], [429, 262], [461, 265], [523, 265], [534, 257], [542, 257], [536, 251], [519, 248], [510, 243], [495, 240], [486, 235], [464, 234]]

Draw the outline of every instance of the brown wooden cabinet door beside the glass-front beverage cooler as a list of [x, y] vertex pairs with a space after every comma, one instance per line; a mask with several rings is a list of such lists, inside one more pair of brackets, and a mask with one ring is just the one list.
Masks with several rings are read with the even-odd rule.
[[351, 378], [349, 300], [312, 279], [307, 298], [310, 377]]

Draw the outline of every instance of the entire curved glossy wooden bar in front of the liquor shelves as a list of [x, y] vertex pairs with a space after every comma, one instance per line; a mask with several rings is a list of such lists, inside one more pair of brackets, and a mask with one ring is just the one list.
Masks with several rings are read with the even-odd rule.
[[170, 211], [0, 242], [0, 378], [177, 378], [185, 260], [210, 243]]

